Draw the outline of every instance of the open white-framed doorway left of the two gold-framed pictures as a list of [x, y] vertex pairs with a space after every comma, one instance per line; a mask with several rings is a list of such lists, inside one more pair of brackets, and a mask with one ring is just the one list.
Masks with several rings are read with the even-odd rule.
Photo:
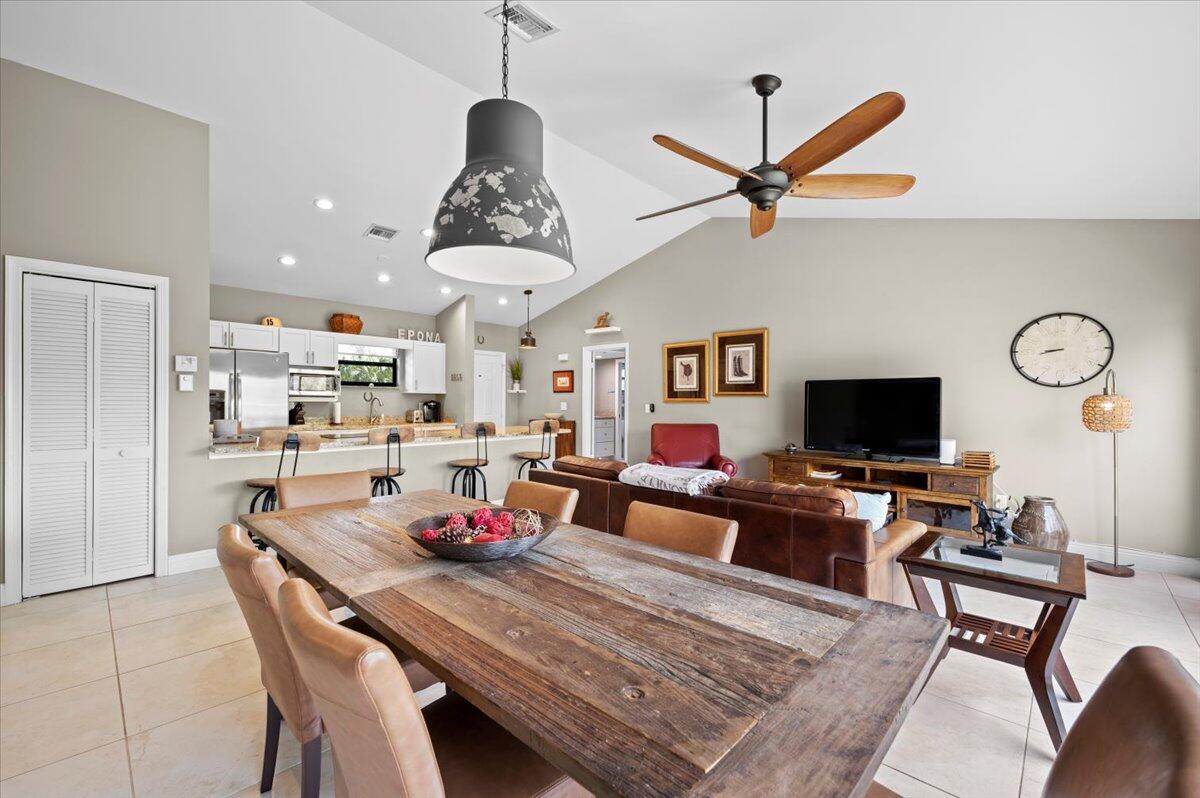
[[629, 457], [629, 344], [583, 348], [583, 454]]

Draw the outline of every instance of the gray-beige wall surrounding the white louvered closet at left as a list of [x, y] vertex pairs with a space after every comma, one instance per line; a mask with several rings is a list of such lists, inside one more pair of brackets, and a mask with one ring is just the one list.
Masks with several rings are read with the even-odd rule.
[[[170, 353], [203, 355], [208, 126], [0, 60], [0, 253], [169, 277]], [[173, 389], [169, 416], [169, 551], [208, 548], [205, 391]]]

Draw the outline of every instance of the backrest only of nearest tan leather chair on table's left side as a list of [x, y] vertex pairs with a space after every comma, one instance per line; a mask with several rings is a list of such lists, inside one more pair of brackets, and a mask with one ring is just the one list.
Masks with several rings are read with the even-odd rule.
[[425, 718], [396, 656], [336, 624], [304, 580], [281, 586], [280, 618], [334, 743], [337, 794], [443, 796]]

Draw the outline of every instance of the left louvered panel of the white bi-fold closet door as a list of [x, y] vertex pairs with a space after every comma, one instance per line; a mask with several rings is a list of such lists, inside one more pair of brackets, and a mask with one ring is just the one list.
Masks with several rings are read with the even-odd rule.
[[92, 283], [24, 281], [22, 588], [91, 584]]

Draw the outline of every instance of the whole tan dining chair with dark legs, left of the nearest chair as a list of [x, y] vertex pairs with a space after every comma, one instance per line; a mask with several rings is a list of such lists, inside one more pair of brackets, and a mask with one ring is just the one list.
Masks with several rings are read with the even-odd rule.
[[[259, 551], [246, 530], [234, 523], [227, 523], [217, 532], [217, 559], [250, 626], [250, 636], [262, 664], [263, 686], [266, 688], [262, 792], [269, 791], [275, 779], [282, 721], [300, 743], [301, 797], [316, 798], [320, 787], [320, 714], [298, 676], [295, 660], [280, 626], [278, 588], [288, 577], [278, 560]], [[349, 618], [344, 624], [361, 631], [368, 629], [358, 618]], [[407, 660], [403, 667], [415, 690], [438, 682], [436, 676], [413, 660]]]

